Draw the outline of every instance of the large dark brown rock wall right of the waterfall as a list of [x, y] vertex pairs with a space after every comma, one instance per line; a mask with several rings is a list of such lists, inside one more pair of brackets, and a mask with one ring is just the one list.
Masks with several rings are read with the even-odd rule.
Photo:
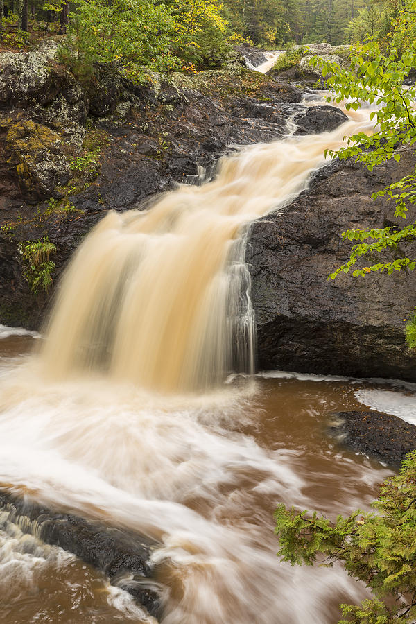
[[413, 158], [403, 153], [399, 164], [372, 173], [334, 162], [281, 214], [252, 225], [247, 259], [260, 369], [416, 380], [416, 355], [404, 338], [413, 273], [327, 279], [348, 256], [341, 232], [394, 222], [387, 202], [370, 195], [410, 173]]

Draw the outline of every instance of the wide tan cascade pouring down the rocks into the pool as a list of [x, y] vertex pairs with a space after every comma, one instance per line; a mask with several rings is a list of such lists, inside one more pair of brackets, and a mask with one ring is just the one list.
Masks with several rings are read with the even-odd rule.
[[110, 212], [64, 277], [42, 353], [51, 379], [105, 372], [158, 392], [207, 390], [252, 373], [247, 224], [306, 187], [367, 114], [331, 133], [226, 157], [214, 182], [182, 186], [145, 211]]

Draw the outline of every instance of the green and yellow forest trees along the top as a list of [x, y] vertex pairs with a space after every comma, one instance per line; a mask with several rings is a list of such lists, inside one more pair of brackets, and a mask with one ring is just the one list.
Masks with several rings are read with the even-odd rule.
[[400, 0], [0, 0], [0, 37], [23, 48], [36, 33], [68, 31], [92, 60], [193, 71], [220, 67], [236, 43], [383, 40], [402, 9]]

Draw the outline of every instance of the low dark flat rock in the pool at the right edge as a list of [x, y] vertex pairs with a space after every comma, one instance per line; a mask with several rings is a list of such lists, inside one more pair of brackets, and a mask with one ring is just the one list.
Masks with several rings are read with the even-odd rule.
[[416, 426], [379, 412], [337, 412], [329, 434], [345, 446], [392, 466], [416, 449]]

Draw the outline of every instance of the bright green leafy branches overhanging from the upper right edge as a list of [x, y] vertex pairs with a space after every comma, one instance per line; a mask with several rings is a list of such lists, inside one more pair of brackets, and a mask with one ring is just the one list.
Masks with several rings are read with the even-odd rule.
[[[356, 46], [355, 54], [350, 58], [350, 69], [315, 60], [324, 73], [332, 74], [327, 84], [336, 94], [337, 102], [345, 99], [346, 108], [353, 110], [358, 110], [363, 101], [377, 106], [377, 110], [370, 115], [370, 119], [375, 121], [374, 134], [367, 136], [359, 132], [349, 137], [346, 148], [329, 151], [331, 157], [354, 157], [356, 162], [362, 162], [372, 171], [376, 164], [390, 159], [400, 160], [396, 149], [398, 144], [406, 149], [413, 148], [416, 142], [416, 114], [413, 109], [416, 88], [415, 85], [408, 85], [406, 80], [410, 70], [416, 67], [415, 40], [409, 41], [407, 35], [416, 28], [416, 0], [408, 2], [407, 7], [390, 33], [390, 45], [385, 53], [381, 52], [379, 44], [370, 41]], [[401, 49], [397, 44], [403, 40], [404, 33], [408, 48]], [[405, 219], [409, 205], [416, 204], [416, 168], [411, 175], [393, 182], [372, 197], [390, 198], [395, 202], [395, 216]], [[358, 261], [363, 261], [366, 256], [374, 257], [374, 254], [379, 254], [379, 261], [356, 268], [354, 277], [374, 271], [386, 270], [390, 274], [395, 270], [414, 270], [416, 257], [403, 254], [401, 246], [415, 241], [415, 226], [416, 223], [410, 223], [405, 227], [388, 225], [381, 229], [344, 232], [344, 239], [358, 243], [352, 247], [349, 260], [330, 275], [331, 279], [341, 272], [347, 273]], [[393, 252], [395, 259], [387, 259], [386, 251]]]

